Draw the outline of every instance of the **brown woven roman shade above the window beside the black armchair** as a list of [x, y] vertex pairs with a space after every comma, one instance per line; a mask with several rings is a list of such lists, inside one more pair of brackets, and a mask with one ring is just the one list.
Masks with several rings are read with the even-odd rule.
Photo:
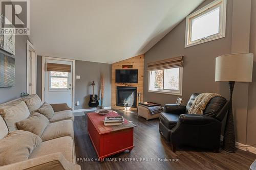
[[179, 56], [161, 61], [147, 63], [147, 71], [182, 67], [183, 57], [184, 56]]

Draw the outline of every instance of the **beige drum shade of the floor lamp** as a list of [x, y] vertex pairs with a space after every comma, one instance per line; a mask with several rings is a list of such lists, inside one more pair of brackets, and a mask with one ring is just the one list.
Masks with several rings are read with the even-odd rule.
[[252, 53], [235, 53], [216, 58], [215, 81], [251, 82]]

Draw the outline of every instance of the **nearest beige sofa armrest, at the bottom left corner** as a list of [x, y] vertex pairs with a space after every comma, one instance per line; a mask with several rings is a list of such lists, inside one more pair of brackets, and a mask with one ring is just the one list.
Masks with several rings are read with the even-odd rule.
[[25, 161], [12, 163], [9, 165], [1, 166], [0, 170], [22, 170], [22, 169], [33, 169], [33, 170], [81, 170], [80, 165], [72, 164], [65, 159], [61, 153], [49, 154]]

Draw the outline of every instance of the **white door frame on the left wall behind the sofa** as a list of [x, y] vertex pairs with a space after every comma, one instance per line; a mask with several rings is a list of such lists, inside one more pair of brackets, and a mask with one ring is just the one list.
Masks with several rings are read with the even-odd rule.
[[27, 93], [36, 94], [36, 53], [27, 41]]

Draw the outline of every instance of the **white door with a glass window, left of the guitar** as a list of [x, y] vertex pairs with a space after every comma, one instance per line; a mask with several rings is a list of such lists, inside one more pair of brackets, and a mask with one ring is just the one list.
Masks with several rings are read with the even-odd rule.
[[50, 104], [67, 103], [72, 108], [73, 62], [46, 59], [47, 63], [71, 65], [71, 72], [47, 71], [45, 69], [45, 101]]

